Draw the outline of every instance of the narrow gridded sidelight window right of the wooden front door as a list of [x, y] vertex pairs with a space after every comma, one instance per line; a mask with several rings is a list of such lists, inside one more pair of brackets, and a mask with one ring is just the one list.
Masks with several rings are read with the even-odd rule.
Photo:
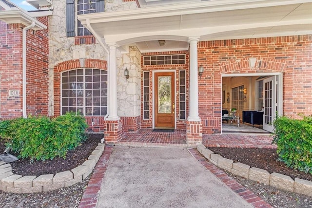
[[186, 118], [186, 92], [185, 92], [186, 76], [185, 70], [179, 71], [179, 119]]

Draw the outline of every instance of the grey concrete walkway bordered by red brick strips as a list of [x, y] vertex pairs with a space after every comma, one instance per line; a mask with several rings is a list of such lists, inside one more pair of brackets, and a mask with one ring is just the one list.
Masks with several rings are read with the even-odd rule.
[[249, 208], [185, 148], [115, 146], [98, 208]]

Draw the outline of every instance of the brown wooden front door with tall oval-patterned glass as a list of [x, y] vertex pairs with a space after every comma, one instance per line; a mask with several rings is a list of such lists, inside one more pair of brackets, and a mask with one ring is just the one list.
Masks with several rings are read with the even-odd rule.
[[175, 73], [155, 73], [155, 128], [175, 128]]

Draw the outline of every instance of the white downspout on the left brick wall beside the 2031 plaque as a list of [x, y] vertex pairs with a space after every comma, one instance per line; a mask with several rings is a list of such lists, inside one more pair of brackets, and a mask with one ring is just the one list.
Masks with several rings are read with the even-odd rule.
[[32, 21], [31, 25], [24, 27], [22, 32], [22, 100], [23, 100], [23, 118], [27, 118], [26, 113], [26, 31], [35, 27], [35, 22]]

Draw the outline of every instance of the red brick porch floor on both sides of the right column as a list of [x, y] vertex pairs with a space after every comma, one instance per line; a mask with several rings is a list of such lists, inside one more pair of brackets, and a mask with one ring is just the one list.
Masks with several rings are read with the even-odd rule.
[[[235, 148], [269, 148], [273, 137], [264, 134], [220, 134], [203, 135], [203, 145], [206, 147]], [[117, 145], [136, 147], [187, 147], [185, 130], [175, 132], [153, 132], [152, 129], [140, 129], [137, 132], [124, 132]]]

